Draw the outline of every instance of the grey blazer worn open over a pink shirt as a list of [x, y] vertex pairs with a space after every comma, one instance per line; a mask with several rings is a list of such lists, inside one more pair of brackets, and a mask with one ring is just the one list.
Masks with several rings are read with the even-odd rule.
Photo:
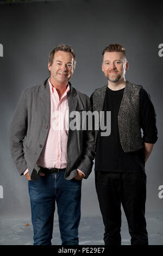
[[[70, 85], [67, 94], [69, 113], [72, 111], [91, 111], [88, 96]], [[48, 79], [38, 86], [23, 90], [11, 121], [9, 138], [11, 156], [18, 172], [22, 175], [28, 168], [30, 178], [35, 181], [41, 172], [37, 160], [41, 154], [48, 134], [51, 99]], [[69, 118], [69, 123], [72, 118]], [[67, 168], [65, 179], [70, 180], [80, 169], [89, 176], [94, 159], [94, 134], [92, 131], [69, 130], [67, 141]]]

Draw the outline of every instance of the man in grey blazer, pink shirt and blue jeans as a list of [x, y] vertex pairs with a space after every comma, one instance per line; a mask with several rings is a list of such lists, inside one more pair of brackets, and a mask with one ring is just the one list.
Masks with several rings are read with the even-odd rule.
[[62, 245], [78, 245], [82, 179], [93, 165], [92, 131], [70, 129], [77, 111], [91, 111], [89, 97], [69, 82], [76, 66], [70, 46], [49, 53], [51, 76], [23, 90], [10, 126], [10, 149], [28, 179], [34, 245], [51, 245], [55, 200]]

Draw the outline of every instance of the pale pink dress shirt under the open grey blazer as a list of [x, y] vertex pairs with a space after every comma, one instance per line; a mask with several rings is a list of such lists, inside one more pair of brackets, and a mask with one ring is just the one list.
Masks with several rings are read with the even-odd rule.
[[[67, 166], [67, 139], [69, 129], [67, 93], [70, 90], [70, 86], [67, 85], [65, 93], [62, 95], [61, 99], [59, 99], [57, 90], [52, 86], [50, 78], [48, 83], [51, 93], [49, 130], [37, 164], [45, 168], [62, 169]], [[26, 169], [23, 174], [25, 175], [27, 172], [28, 169]]]

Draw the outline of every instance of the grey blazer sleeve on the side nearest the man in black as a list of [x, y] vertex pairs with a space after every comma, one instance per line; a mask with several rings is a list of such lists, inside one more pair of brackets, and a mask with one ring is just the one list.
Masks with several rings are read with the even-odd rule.
[[[92, 112], [92, 106], [89, 97], [87, 97], [87, 106], [86, 111]], [[79, 165], [77, 169], [81, 170], [87, 179], [91, 173], [93, 166], [93, 159], [95, 157], [94, 153], [94, 144], [95, 144], [95, 135], [92, 130], [86, 129], [83, 131], [83, 151], [82, 156], [80, 157]]]

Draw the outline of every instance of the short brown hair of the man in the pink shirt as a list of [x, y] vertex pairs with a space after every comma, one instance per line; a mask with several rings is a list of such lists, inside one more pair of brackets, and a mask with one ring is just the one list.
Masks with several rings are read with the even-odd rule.
[[70, 52], [73, 56], [73, 69], [76, 68], [76, 54], [74, 53], [73, 49], [71, 48], [70, 45], [65, 45], [65, 44], [59, 44], [57, 47], [55, 47], [50, 53], [49, 53], [49, 58], [48, 62], [52, 66], [53, 64], [53, 59], [54, 59], [54, 54], [55, 52], [58, 51], [63, 51], [63, 52]]

